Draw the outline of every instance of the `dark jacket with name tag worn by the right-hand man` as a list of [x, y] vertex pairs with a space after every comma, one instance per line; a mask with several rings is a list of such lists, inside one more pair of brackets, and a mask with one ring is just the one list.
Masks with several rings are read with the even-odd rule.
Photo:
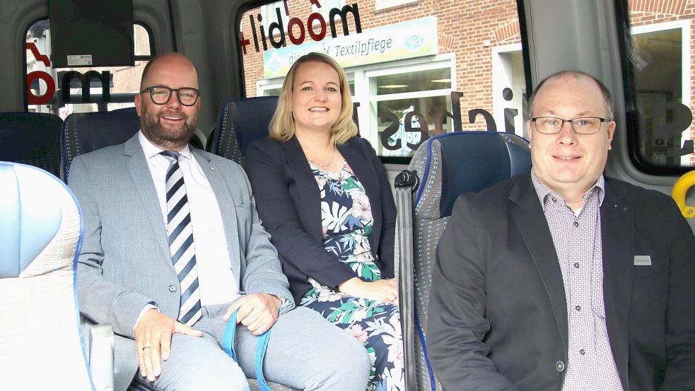
[[[695, 390], [695, 240], [672, 199], [606, 180], [605, 313], [625, 390]], [[650, 266], [635, 266], [650, 255]], [[568, 325], [530, 174], [457, 199], [440, 240], [428, 352], [445, 390], [560, 390]]]

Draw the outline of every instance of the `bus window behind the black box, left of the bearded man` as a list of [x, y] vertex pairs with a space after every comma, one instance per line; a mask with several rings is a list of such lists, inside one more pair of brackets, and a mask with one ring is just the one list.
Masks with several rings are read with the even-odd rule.
[[[27, 111], [49, 112], [65, 119], [73, 112], [109, 111], [134, 107], [145, 64], [153, 56], [152, 37], [144, 25], [134, 24], [134, 66], [54, 69], [48, 19], [37, 21], [26, 34]], [[69, 94], [63, 92], [68, 86]], [[107, 99], [103, 88], [107, 87]], [[66, 96], [68, 95], [68, 96]], [[88, 102], [83, 103], [83, 97]]]

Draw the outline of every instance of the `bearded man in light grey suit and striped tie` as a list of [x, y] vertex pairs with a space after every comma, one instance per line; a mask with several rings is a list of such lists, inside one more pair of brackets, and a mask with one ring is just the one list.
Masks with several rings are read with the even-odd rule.
[[[139, 367], [139, 381], [160, 389], [248, 390], [256, 336], [272, 327], [267, 380], [363, 391], [369, 359], [361, 344], [312, 310], [291, 310], [243, 170], [188, 145], [197, 88], [188, 59], [156, 57], [135, 98], [141, 132], [71, 165], [85, 221], [80, 310], [114, 327], [116, 389]], [[235, 309], [238, 364], [220, 347]]]

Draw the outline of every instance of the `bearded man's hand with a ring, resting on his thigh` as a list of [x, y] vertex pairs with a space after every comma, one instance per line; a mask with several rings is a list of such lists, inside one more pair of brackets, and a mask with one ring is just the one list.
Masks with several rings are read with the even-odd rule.
[[201, 337], [202, 332], [160, 313], [148, 310], [135, 325], [140, 375], [153, 382], [162, 373], [162, 360], [171, 355], [171, 335], [175, 332]]

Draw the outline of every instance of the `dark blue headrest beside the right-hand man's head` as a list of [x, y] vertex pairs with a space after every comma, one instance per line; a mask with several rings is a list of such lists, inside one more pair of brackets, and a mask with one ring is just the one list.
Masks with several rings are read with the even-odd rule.
[[447, 133], [429, 139], [426, 148], [427, 160], [416, 203], [428, 185], [426, 177], [440, 175], [439, 217], [451, 215], [460, 194], [479, 192], [531, 169], [529, 143], [515, 134]]

